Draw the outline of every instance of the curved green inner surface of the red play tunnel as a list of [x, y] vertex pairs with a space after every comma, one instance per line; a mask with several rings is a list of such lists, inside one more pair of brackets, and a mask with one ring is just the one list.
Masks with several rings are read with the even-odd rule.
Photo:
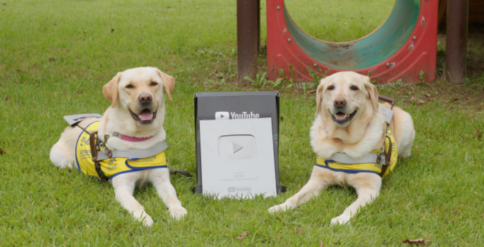
[[310, 36], [292, 20], [284, 5], [284, 18], [292, 39], [319, 63], [342, 70], [369, 68], [391, 57], [416, 27], [420, 0], [395, 0], [386, 21], [371, 34], [355, 41], [333, 43]]

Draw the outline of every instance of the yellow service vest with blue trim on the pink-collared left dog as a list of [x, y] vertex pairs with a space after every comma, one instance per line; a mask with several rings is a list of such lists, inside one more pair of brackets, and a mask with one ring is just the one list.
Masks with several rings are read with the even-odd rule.
[[[86, 127], [86, 131], [91, 134], [97, 130], [99, 126], [99, 121], [95, 121]], [[77, 144], [75, 146], [75, 160], [77, 162], [77, 168], [79, 172], [101, 179], [94, 167], [93, 157], [91, 155], [91, 144], [89, 142], [89, 134], [82, 131], [81, 135], [77, 138]], [[101, 148], [101, 151], [102, 152]], [[158, 153], [158, 155], [153, 155], [151, 157], [137, 159], [137, 158], [111, 158], [103, 159], [100, 162], [101, 170], [108, 177], [112, 179], [113, 177], [127, 173], [134, 172], [137, 170], [146, 170], [153, 168], [167, 168], [167, 158], [165, 157], [165, 151]]]

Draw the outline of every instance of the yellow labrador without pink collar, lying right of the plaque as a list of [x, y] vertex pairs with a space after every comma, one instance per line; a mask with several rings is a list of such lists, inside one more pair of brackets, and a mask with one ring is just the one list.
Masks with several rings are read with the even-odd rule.
[[355, 72], [338, 72], [322, 79], [316, 100], [310, 142], [318, 156], [317, 165], [308, 184], [269, 212], [295, 208], [333, 184], [352, 186], [356, 201], [331, 219], [331, 224], [345, 224], [360, 207], [378, 197], [380, 176], [395, 166], [396, 157], [410, 156], [415, 138], [413, 121], [409, 113], [397, 107], [393, 108], [393, 117], [386, 119], [384, 112], [388, 110], [382, 107], [390, 108], [389, 104], [380, 105], [369, 77]]

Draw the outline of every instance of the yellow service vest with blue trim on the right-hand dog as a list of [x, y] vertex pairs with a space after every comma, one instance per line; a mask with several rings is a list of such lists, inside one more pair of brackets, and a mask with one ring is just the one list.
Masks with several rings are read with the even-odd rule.
[[[390, 157], [390, 164], [389, 167], [382, 175], [382, 177], [388, 175], [388, 173], [393, 170], [395, 164], [397, 163], [397, 145], [395, 144], [395, 138], [393, 137], [390, 127], [387, 126], [387, 137], [390, 138], [391, 141], [391, 157]], [[385, 151], [389, 152], [389, 139], [385, 137]], [[380, 148], [375, 149], [371, 152], [378, 154], [381, 151]], [[327, 168], [330, 170], [334, 170], [337, 172], [348, 172], [348, 173], [358, 173], [358, 172], [373, 172], [377, 175], [380, 175], [382, 172], [382, 164], [378, 163], [360, 163], [360, 164], [343, 164], [331, 159], [323, 159], [321, 157], [317, 157], [316, 166]]]

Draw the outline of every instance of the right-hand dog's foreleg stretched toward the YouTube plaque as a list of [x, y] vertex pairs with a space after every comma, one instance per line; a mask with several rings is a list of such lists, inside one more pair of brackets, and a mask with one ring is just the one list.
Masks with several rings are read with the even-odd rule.
[[296, 195], [293, 195], [292, 197], [287, 199], [283, 204], [279, 204], [269, 208], [269, 213], [275, 213], [281, 210], [286, 211], [291, 208], [296, 208], [297, 206], [304, 204], [311, 197], [319, 195], [319, 192], [321, 192], [321, 190], [328, 188], [328, 186], [330, 185], [328, 181], [330, 181], [331, 179], [325, 179], [328, 174], [326, 173], [326, 170], [322, 169], [325, 168], [319, 168], [315, 166], [313, 168], [313, 174], [311, 174], [308, 184], [301, 188], [301, 190], [299, 190]]

